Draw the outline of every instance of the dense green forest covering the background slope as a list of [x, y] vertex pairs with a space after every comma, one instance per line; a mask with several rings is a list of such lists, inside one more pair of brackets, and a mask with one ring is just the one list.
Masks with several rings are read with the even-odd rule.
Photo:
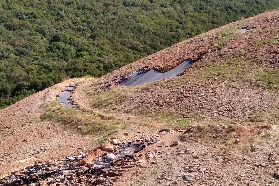
[[0, 108], [277, 7], [278, 0], [2, 0]]

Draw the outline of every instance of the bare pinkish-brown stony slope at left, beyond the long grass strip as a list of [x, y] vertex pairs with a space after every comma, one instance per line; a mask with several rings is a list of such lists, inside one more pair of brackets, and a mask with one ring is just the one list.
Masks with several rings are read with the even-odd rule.
[[[0, 177], [34, 162], [86, 151], [89, 137], [71, 134], [58, 124], [40, 122], [40, 105], [55, 100], [71, 79], [33, 94], [0, 111]], [[89, 139], [88, 139], [89, 138]]]

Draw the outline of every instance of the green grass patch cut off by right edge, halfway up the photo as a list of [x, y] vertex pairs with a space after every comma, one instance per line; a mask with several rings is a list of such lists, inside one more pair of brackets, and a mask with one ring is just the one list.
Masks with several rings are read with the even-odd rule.
[[270, 91], [279, 91], [279, 69], [269, 69], [259, 73], [258, 81]]

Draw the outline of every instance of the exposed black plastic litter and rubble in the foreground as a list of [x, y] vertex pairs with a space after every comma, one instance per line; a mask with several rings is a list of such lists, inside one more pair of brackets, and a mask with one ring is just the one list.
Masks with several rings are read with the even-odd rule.
[[[86, 156], [80, 154], [65, 159], [54, 159], [48, 162], [37, 162], [33, 166], [14, 172], [7, 178], [0, 180], [0, 185], [40, 185], [45, 182], [47, 185], [111, 185], [122, 175], [126, 168], [140, 166], [137, 157], [141, 157], [141, 151], [156, 141], [128, 142], [113, 149], [108, 149], [95, 161], [86, 162]], [[102, 152], [95, 149], [95, 152]], [[102, 154], [102, 153], [101, 153]]]

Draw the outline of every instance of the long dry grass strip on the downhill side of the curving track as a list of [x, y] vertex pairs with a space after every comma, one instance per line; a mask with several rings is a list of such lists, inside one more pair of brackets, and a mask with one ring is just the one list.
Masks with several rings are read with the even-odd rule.
[[[42, 121], [52, 121], [60, 123], [66, 129], [78, 132], [82, 135], [93, 135], [96, 137], [94, 144], [100, 145], [105, 140], [116, 134], [119, 130], [126, 131], [129, 123], [117, 121], [114, 117], [87, 117], [86, 114], [76, 109], [67, 108], [56, 101], [42, 105], [45, 113], [41, 116]], [[92, 112], [90, 115], [95, 114]]]

